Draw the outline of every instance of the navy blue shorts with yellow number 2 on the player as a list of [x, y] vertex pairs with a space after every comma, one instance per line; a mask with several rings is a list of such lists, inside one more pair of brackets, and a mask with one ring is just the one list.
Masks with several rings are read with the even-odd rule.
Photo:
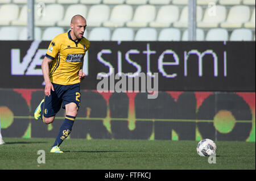
[[80, 83], [73, 85], [58, 85], [52, 83], [54, 91], [51, 90], [50, 96], [44, 98], [44, 117], [55, 116], [68, 103], [76, 103], [77, 108], [80, 107]]

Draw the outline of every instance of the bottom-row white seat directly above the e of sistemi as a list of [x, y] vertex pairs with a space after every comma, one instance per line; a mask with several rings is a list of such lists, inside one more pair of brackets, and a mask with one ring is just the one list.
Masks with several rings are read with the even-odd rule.
[[163, 28], [158, 36], [158, 41], [180, 41], [179, 28]]

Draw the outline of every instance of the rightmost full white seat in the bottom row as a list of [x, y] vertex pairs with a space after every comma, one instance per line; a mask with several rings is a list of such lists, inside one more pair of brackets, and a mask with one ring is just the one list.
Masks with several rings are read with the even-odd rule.
[[251, 41], [253, 33], [249, 29], [239, 28], [233, 30], [230, 35], [230, 41]]

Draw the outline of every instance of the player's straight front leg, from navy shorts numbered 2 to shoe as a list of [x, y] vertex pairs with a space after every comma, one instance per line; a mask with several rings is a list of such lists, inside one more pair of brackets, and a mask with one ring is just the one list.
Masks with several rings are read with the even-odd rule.
[[63, 108], [66, 110], [66, 115], [63, 124], [60, 127], [59, 134], [52, 146], [53, 150], [55, 148], [59, 149], [60, 144], [71, 133], [73, 123], [76, 119], [77, 111], [79, 110], [80, 106], [80, 85], [70, 85], [68, 87], [69, 90], [63, 95]]

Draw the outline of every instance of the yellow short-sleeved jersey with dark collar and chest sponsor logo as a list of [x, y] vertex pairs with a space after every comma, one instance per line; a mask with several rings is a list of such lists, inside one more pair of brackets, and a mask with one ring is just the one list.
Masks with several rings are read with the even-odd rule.
[[46, 52], [46, 57], [53, 60], [49, 65], [51, 82], [59, 85], [79, 83], [78, 72], [89, 47], [90, 42], [85, 37], [79, 41], [72, 40], [70, 31], [57, 35]]

